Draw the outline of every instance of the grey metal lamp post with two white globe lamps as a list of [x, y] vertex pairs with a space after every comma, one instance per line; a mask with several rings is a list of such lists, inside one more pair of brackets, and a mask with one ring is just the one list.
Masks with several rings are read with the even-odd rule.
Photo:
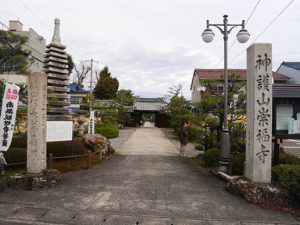
[[[210, 24], [209, 20], [206, 21], [206, 29], [202, 33], [203, 41], [209, 43], [214, 39], [214, 32], [209, 28], [210, 26], [218, 28], [224, 37], [224, 127], [221, 136], [221, 152], [220, 152], [220, 167], [218, 171], [227, 173], [230, 155], [230, 141], [229, 141], [229, 130], [227, 126], [227, 108], [228, 108], [228, 71], [227, 71], [227, 42], [228, 34], [233, 28], [241, 26], [242, 29], [236, 35], [240, 43], [248, 41], [250, 34], [245, 29], [245, 21], [241, 24], [228, 24], [227, 15], [223, 16], [223, 24]], [[223, 29], [222, 29], [223, 27]]]

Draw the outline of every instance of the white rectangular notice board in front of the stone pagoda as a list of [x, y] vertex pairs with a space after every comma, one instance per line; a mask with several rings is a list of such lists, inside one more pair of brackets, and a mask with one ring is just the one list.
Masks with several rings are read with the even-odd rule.
[[72, 141], [73, 121], [47, 121], [47, 142]]

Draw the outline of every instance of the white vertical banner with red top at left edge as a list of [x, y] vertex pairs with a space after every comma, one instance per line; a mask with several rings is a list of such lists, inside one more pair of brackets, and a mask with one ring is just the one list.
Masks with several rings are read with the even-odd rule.
[[19, 87], [5, 84], [0, 118], [0, 151], [7, 151], [14, 135], [18, 110]]

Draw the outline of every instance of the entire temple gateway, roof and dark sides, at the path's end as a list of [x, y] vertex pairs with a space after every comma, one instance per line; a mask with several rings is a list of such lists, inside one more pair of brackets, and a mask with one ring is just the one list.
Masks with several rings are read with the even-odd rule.
[[143, 115], [154, 116], [154, 126], [159, 128], [169, 127], [169, 116], [161, 113], [164, 107], [163, 98], [135, 98], [133, 102], [133, 121], [132, 125], [136, 126], [142, 120]]

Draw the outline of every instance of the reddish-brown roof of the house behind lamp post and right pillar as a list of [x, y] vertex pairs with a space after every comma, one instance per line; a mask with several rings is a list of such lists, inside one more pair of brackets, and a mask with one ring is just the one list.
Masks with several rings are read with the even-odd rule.
[[[221, 75], [224, 74], [223, 69], [195, 69], [195, 74], [200, 79], [214, 79], [214, 80], [223, 80]], [[228, 74], [230, 73], [237, 73], [240, 74], [240, 80], [247, 80], [247, 70], [245, 69], [228, 69]], [[290, 78], [282, 75], [277, 72], [273, 72], [274, 80], [289, 80]]]

